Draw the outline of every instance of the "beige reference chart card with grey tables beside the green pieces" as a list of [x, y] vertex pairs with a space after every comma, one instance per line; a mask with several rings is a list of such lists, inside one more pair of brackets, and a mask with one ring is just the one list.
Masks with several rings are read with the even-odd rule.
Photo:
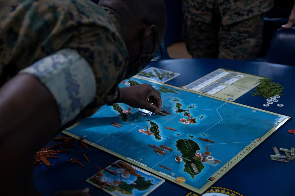
[[220, 68], [183, 88], [234, 101], [255, 88], [260, 79], [263, 77]]

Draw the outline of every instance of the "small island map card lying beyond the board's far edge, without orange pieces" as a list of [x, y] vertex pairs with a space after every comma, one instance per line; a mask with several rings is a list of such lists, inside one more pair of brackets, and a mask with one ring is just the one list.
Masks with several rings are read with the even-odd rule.
[[172, 71], [162, 70], [155, 67], [150, 67], [146, 70], [139, 72], [137, 76], [165, 83], [177, 76], [180, 76], [180, 74], [172, 72]]

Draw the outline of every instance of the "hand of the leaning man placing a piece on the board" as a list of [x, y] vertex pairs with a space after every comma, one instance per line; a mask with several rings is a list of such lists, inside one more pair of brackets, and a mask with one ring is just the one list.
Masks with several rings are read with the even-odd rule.
[[148, 84], [120, 88], [119, 102], [155, 114], [158, 114], [162, 107], [161, 93]]

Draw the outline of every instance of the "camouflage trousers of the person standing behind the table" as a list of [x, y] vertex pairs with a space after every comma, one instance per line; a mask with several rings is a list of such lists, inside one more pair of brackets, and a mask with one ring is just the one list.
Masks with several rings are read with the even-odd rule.
[[262, 45], [263, 14], [222, 25], [215, 8], [211, 24], [185, 17], [183, 24], [187, 51], [193, 58], [256, 58]]

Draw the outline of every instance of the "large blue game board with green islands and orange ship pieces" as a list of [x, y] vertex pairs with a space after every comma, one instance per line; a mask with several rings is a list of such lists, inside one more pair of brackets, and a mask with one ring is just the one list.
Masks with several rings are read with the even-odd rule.
[[162, 115], [113, 104], [64, 133], [199, 194], [290, 119], [140, 77], [128, 81], [163, 89]]

